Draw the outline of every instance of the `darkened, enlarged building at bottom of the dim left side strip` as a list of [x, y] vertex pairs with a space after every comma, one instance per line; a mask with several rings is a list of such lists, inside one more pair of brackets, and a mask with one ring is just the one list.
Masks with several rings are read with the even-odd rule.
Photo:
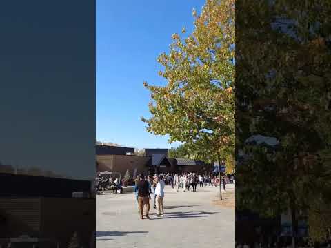
[[74, 192], [90, 192], [90, 186], [88, 180], [0, 173], [0, 187], [6, 189], [0, 192], [0, 246], [27, 235], [47, 240], [39, 247], [66, 247], [77, 232], [81, 245], [91, 247], [95, 198], [73, 198]]

